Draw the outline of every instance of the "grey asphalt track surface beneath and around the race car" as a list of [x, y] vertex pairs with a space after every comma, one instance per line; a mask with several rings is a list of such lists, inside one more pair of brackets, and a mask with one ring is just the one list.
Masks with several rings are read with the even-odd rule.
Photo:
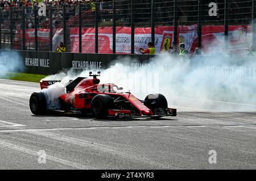
[[177, 117], [124, 121], [34, 116], [28, 100], [39, 89], [0, 79], [0, 169], [256, 169], [256, 112], [180, 108]]

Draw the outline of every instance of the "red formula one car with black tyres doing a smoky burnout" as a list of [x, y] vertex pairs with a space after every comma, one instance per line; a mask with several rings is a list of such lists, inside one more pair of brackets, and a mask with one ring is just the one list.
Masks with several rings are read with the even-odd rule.
[[[60, 107], [55, 111], [92, 114], [98, 119], [176, 116], [176, 109], [168, 108], [162, 94], [150, 94], [144, 100], [139, 100], [130, 92], [121, 92], [123, 89], [113, 83], [100, 84], [97, 78], [100, 72], [89, 74], [92, 78], [79, 77], [69, 82], [66, 93], [59, 97]], [[60, 81], [42, 81], [41, 89], [47, 89], [56, 82]], [[34, 92], [30, 97], [30, 110], [35, 115], [53, 111], [47, 104], [49, 101], [44, 91]]]

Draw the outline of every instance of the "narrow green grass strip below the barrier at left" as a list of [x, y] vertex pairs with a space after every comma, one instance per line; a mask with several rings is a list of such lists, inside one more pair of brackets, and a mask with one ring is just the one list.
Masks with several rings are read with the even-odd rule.
[[7, 73], [6, 75], [0, 76], [0, 78], [10, 79], [15, 81], [39, 82], [42, 78], [46, 76], [47, 75], [11, 72], [11, 73]]

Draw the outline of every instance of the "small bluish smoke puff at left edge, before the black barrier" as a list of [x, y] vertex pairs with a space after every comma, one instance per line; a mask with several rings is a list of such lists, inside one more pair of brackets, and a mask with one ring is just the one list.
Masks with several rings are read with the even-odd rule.
[[14, 51], [0, 52], [0, 76], [6, 77], [7, 73], [24, 70], [22, 58]]

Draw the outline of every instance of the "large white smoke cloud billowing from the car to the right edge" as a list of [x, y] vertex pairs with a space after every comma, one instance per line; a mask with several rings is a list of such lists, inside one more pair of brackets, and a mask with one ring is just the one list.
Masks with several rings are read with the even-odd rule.
[[[241, 60], [240, 60], [241, 59]], [[150, 93], [166, 96], [169, 107], [190, 110], [255, 111], [256, 57], [159, 55], [147, 64], [118, 60], [101, 70], [101, 83], [115, 83], [139, 99]], [[64, 93], [69, 79], [88, 77], [89, 70], [51, 75], [45, 79], [64, 79], [47, 90], [51, 99]], [[61, 87], [62, 86], [62, 87]]]

